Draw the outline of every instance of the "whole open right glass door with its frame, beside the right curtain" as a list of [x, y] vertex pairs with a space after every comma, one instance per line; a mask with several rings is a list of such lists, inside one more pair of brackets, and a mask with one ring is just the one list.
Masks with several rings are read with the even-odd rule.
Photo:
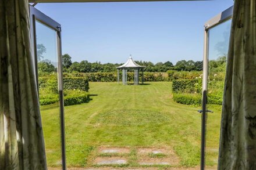
[[[233, 6], [205, 24], [201, 169], [218, 164], [222, 98]], [[216, 135], [217, 134], [217, 135]]]

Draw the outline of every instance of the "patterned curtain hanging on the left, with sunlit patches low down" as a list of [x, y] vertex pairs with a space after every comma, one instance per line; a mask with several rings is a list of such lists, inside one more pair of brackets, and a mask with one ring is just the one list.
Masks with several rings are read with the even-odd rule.
[[0, 169], [47, 169], [27, 0], [0, 1]]

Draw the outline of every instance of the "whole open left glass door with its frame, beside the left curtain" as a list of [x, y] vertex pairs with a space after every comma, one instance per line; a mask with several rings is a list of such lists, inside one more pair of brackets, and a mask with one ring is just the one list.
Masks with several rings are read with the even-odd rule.
[[61, 25], [33, 6], [30, 20], [47, 165], [65, 169]]

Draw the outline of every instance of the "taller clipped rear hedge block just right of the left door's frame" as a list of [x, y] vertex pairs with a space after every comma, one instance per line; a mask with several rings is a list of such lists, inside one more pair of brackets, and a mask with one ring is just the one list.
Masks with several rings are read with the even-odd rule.
[[65, 77], [63, 78], [64, 90], [78, 89], [80, 91], [89, 91], [89, 82], [84, 77]]

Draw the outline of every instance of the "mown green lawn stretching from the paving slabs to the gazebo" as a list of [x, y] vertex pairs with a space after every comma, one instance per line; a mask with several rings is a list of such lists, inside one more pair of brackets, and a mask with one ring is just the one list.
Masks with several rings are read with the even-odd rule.
[[[89, 103], [65, 107], [68, 167], [88, 167], [100, 146], [165, 147], [180, 158], [179, 167], [200, 164], [200, 107], [172, 100], [171, 82], [145, 85], [91, 82]], [[216, 165], [221, 107], [208, 115], [207, 165]], [[47, 162], [61, 160], [59, 113], [56, 104], [41, 107]], [[129, 166], [136, 160], [133, 154]]]

